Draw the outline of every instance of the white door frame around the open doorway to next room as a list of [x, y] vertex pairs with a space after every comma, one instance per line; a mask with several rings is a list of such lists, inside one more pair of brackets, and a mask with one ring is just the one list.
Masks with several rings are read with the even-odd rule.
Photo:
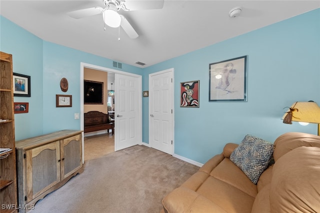
[[[116, 69], [111, 69], [107, 67], [97, 66], [94, 64], [88, 64], [80, 62], [80, 130], [84, 131], [84, 97], [83, 97], [83, 87], [84, 87], [84, 68], [95, 69], [104, 72], [112, 72], [116, 74], [128, 75], [136, 77], [138, 79], [138, 94], [142, 94], [142, 76], [130, 72], [120, 71]], [[116, 92], [116, 85], [114, 85], [114, 91]], [[138, 144], [142, 144], [142, 95], [138, 95], [138, 119], [137, 119], [137, 128], [138, 128]], [[119, 131], [119, 130], [117, 130]], [[116, 136], [114, 134], [114, 143]], [[115, 151], [115, 146], [114, 146]], [[82, 164], [84, 164], [84, 132], [82, 132]]]

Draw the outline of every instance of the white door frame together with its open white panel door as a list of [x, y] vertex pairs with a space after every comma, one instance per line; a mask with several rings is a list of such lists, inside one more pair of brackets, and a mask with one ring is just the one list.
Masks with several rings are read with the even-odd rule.
[[[142, 144], [142, 76], [97, 65], [80, 63], [80, 125], [84, 130], [84, 68], [114, 73], [114, 151]], [[84, 163], [84, 134], [82, 134]]]

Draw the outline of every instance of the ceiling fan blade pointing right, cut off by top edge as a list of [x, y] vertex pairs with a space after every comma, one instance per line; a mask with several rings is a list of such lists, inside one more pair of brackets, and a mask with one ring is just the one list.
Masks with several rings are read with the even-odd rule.
[[163, 0], [121, 0], [123, 10], [161, 9]]

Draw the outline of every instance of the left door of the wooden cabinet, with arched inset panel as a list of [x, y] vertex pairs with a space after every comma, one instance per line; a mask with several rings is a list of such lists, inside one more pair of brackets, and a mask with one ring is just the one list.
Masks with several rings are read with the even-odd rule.
[[27, 202], [60, 181], [59, 146], [56, 141], [25, 151]]

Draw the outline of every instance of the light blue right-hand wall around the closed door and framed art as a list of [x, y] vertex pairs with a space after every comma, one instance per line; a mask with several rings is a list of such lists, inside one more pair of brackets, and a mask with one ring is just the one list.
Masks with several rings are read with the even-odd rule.
[[[246, 134], [272, 142], [284, 132], [317, 134], [317, 126], [283, 124], [295, 101], [320, 104], [320, 9], [172, 58], [143, 70], [174, 68], [174, 153], [205, 163], [225, 143]], [[168, 50], [169, 51], [169, 50]], [[209, 63], [248, 56], [247, 102], [208, 102]], [[179, 83], [200, 80], [200, 107], [180, 108]], [[143, 141], [148, 143], [148, 100], [143, 98]]]

